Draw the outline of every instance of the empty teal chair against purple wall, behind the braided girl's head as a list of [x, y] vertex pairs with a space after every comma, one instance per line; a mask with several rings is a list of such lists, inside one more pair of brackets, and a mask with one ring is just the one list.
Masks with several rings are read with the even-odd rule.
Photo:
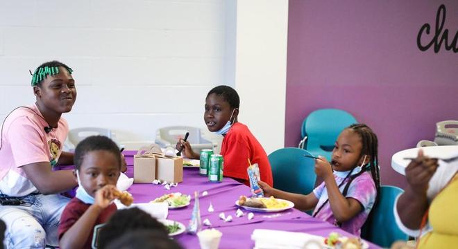
[[300, 130], [303, 140], [299, 148], [314, 156], [325, 156], [331, 160], [334, 142], [339, 133], [357, 120], [348, 112], [339, 109], [319, 109], [305, 118]]

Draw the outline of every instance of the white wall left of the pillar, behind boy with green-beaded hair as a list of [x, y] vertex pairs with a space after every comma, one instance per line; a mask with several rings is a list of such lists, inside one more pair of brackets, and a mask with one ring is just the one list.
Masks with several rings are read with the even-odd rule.
[[71, 128], [108, 127], [153, 140], [158, 127], [204, 127], [203, 103], [223, 82], [223, 0], [0, 1], [0, 120], [35, 101], [32, 71], [74, 68]]

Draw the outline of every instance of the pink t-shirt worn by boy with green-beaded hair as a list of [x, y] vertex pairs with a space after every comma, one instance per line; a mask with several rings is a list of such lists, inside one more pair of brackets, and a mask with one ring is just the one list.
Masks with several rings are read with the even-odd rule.
[[37, 192], [22, 166], [49, 162], [56, 165], [69, 131], [67, 121], [60, 118], [58, 127], [46, 133], [48, 124], [33, 104], [10, 113], [3, 124], [0, 149], [0, 190], [9, 196], [26, 196]]

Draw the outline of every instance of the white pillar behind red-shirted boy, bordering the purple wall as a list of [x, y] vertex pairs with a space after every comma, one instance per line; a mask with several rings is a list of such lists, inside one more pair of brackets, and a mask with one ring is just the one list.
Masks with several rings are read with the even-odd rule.
[[285, 145], [287, 0], [237, 1], [235, 88], [239, 121], [267, 154]]

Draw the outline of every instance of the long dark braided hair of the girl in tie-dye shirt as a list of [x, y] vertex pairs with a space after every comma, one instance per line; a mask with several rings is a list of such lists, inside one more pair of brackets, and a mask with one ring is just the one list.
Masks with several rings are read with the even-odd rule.
[[371, 158], [369, 165], [371, 174], [377, 191], [380, 187], [380, 168], [378, 165], [378, 138], [377, 135], [366, 124], [351, 124], [346, 129], [355, 131], [362, 142], [362, 155], [368, 155]]

